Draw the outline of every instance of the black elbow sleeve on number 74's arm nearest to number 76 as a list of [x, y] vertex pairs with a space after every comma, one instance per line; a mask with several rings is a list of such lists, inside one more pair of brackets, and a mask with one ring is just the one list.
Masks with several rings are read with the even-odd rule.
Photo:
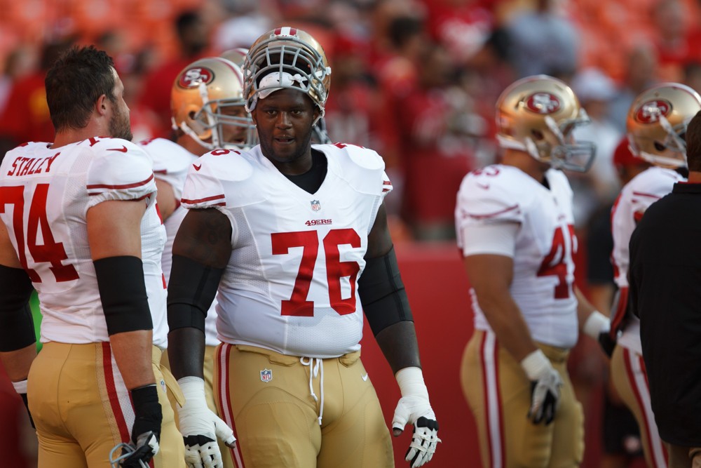
[[154, 328], [144, 281], [144, 264], [122, 255], [93, 262], [107, 334]]

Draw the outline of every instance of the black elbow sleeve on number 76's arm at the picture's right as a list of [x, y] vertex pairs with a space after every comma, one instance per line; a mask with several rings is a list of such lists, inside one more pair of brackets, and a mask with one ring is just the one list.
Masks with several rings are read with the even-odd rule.
[[394, 323], [414, 321], [394, 247], [386, 255], [365, 261], [358, 295], [375, 336]]

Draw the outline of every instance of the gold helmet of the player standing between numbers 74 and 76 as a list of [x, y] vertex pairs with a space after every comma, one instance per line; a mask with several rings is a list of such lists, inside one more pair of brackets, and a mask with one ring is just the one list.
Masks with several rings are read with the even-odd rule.
[[208, 150], [248, 149], [257, 133], [243, 99], [238, 65], [219, 57], [196, 60], [182, 69], [170, 93], [173, 130]]

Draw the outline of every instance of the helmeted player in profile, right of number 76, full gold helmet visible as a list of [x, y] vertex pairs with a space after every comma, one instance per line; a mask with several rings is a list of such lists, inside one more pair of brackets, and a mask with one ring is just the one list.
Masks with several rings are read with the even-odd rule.
[[550, 76], [512, 83], [496, 119], [503, 162], [466, 175], [456, 206], [475, 312], [463, 392], [484, 467], [575, 467], [584, 427], [567, 356], [580, 324], [598, 338], [608, 319], [573, 284], [572, 190], [559, 169], [586, 171], [595, 147], [573, 139], [587, 116]]

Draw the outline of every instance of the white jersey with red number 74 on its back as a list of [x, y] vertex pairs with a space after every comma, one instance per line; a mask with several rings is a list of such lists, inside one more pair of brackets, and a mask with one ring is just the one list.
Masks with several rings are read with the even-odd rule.
[[154, 345], [165, 346], [165, 229], [156, 210], [151, 161], [127, 140], [90, 138], [58, 148], [27, 143], [0, 166], [0, 218], [39, 293], [41, 342], [109, 340], [90, 258], [86, 215], [108, 200], [147, 203], [142, 262], [154, 321]]

